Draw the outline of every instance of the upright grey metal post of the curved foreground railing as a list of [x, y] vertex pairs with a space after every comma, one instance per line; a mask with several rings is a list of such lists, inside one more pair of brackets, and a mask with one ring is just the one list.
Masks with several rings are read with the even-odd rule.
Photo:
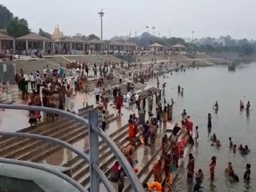
[[99, 192], [99, 177], [98, 173], [94, 170], [93, 164], [99, 165], [99, 136], [93, 129], [98, 129], [98, 112], [91, 110], [89, 113], [89, 126], [90, 126], [90, 185], [93, 192]]

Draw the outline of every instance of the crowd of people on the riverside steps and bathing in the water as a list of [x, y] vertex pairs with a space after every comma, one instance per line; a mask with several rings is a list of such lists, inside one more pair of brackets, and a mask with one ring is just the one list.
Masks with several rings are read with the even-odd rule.
[[[69, 112], [77, 113], [76, 108], [74, 107], [73, 98], [76, 96], [76, 92], [79, 90], [84, 90], [85, 93], [88, 93], [88, 87], [86, 87], [86, 82], [88, 77], [95, 77], [96, 85], [94, 88], [94, 96], [96, 99], [96, 104], [102, 108], [102, 130], [105, 131], [107, 126], [107, 119], [105, 112], [108, 110], [108, 104], [110, 103], [110, 98], [113, 98], [113, 105], [115, 105], [116, 110], [119, 115], [122, 114], [122, 107], [126, 107], [130, 110], [133, 107], [133, 104], [136, 105], [138, 110], [138, 115], [132, 113], [129, 116], [128, 123], [128, 138], [130, 144], [128, 146], [122, 146], [121, 151], [127, 158], [127, 161], [130, 163], [132, 168], [137, 172], [135, 168], [136, 160], [134, 160], [134, 152], [137, 147], [137, 144], [144, 144], [145, 149], [149, 148], [152, 145], [156, 145], [156, 140], [158, 137], [157, 132], [165, 132], [162, 137], [161, 142], [161, 151], [162, 155], [158, 159], [157, 163], [154, 165], [152, 172], [154, 175], [154, 182], [149, 182], [144, 185], [146, 189], [155, 190], [155, 191], [165, 191], [165, 188], [171, 188], [172, 183], [172, 172], [176, 172], [180, 163], [184, 160], [185, 147], [190, 145], [193, 146], [194, 141], [197, 143], [199, 138], [199, 127], [196, 126], [194, 130], [193, 137], [193, 122], [191, 121], [190, 115], [187, 114], [184, 109], [181, 116], [180, 126], [179, 123], [175, 123], [171, 134], [168, 133], [168, 122], [173, 122], [172, 113], [173, 106], [175, 105], [173, 99], [170, 103], [167, 103], [165, 100], [165, 87], [166, 83], [162, 86], [163, 91], [163, 104], [162, 104], [162, 94], [155, 93], [155, 102], [154, 94], [151, 91], [148, 91], [143, 97], [142, 94], [137, 94], [134, 91], [133, 83], [125, 84], [126, 88], [123, 91], [121, 87], [123, 76], [125, 73], [119, 73], [119, 87], [115, 86], [112, 88], [110, 85], [109, 78], [113, 78], [115, 75], [115, 70], [117, 67], [124, 68], [123, 62], [105, 62], [104, 65], [97, 66], [96, 63], [93, 65], [93, 76], [89, 76], [89, 65], [87, 63], [79, 64], [77, 62], [71, 62], [66, 65], [66, 68], [69, 69], [69, 72], [73, 77], [69, 79], [66, 78], [66, 74], [62, 69], [49, 69], [48, 66], [45, 66], [43, 69], [43, 76], [40, 74], [40, 71], [35, 71], [35, 73], [30, 73], [29, 77], [26, 79], [24, 77], [24, 72], [21, 69], [20, 74], [16, 75], [16, 82], [22, 92], [22, 98], [30, 98], [29, 105], [44, 106], [57, 108], [60, 110], [67, 110]], [[164, 67], [163, 63], [160, 63], [158, 66], [160, 69]], [[162, 68], [163, 67], [163, 68]], [[128, 67], [129, 68], [129, 67]], [[168, 71], [169, 72], [169, 71]], [[171, 72], [172, 73], [172, 72]], [[99, 78], [98, 78], [99, 77]], [[149, 66], [145, 72], [139, 73], [129, 73], [129, 77], [132, 77], [133, 82], [141, 82], [144, 84], [149, 78], [157, 79], [157, 87], [160, 87], [160, 81], [158, 79], [158, 74], [154, 73], [154, 67]], [[105, 82], [107, 86], [102, 87]], [[29, 93], [29, 86], [31, 87], [32, 92]], [[102, 88], [101, 88], [102, 87]], [[184, 89], [178, 86], [178, 94], [183, 96]], [[124, 104], [126, 101], [126, 104]], [[148, 113], [146, 112], [146, 103], [148, 103]], [[153, 110], [155, 106], [155, 110]], [[218, 102], [215, 102], [213, 105], [215, 111], [218, 112], [219, 105]], [[248, 111], [251, 107], [250, 102], [247, 102], [246, 110]], [[243, 109], [243, 101], [240, 101], [240, 108]], [[148, 114], [148, 119], [146, 116]], [[54, 115], [47, 114], [48, 118], [51, 116], [54, 118]], [[29, 123], [31, 125], [37, 124], [37, 121], [41, 119], [41, 113], [37, 111], [29, 112]], [[212, 115], [208, 113], [208, 128], [212, 128]], [[140, 134], [141, 133], [141, 134]], [[168, 135], [169, 134], [169, 135]], [[216, 147], [221, 147], [221, 141], [218, 140], [216, 134], [213, 133], [210, 138], [212, 145]], [[240, 147], [236, 149], [236, 145], [232, 143], [232, 138], [229, 138], [230, 148], [233, 152], [237, 150], [243, 154], [247, 155], [250, 152], [248, 146], [240, 144]], [[217, 157], [213, 156], [209, 165], [210, 169], [210, 178], [211, 180], [215, 179], [215, 166], [216, 166]], [[188, 154], [188, 165], [187, 165], [187, 178], [189, 181], [195, 179], [194, 192], [199, 192], [202, 190], [202, 183], [204, 181], [204, 173], [202, 169], [198, 169], [197, 172], [194, 171], [195, 160], [192, 153]], [[225, 174], [232, 177], [236, 182], [239, 181], [239, 177], [235, 174], [233, 170], [232, 163], [229, 162]], [[247, 163], [246, 172], [244, 173], [244, 180], [249, 181], [251, 175], [251, 165]], [[123, 168], [117, 161], [112, 168], [112, 174], [110, 180], [118, 183], [118, 191], [123, 191], [124, 188], [124, 179], [126, 179], [126, 174], [123, 171]]]

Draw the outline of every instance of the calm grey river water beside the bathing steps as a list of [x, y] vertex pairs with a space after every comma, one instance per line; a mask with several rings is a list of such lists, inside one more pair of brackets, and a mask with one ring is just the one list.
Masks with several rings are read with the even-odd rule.
[[[256, 62], [240, 64], [235, 71], [229, 71], [227, 66], [210, 66], [206, 68], [190, 68], [185, 73], [167, 74], [160, 78], [160, 85], [166, 82], [165, 98], [176, 102], [174, 104], [174, 121], [180, 121], [183, 108], [194, 123], [199, 126], [198, 146], [191, 149], [195, 158], [195, 171], [201, 168], [204, 172], [204, 191], [256, 191]], [[151, 83], [156, 83], [155, 79]], [[184, 88], [184, 96], [177, 94], [177, 86]], [[240, 99], [244, 105], [251, 102], [251, 110], [240, 111]], [[219, 103], [219, 111], [215, 113], [213, 104]], [[212, 130], [207, 128], [207, 115], [211, 113]], [[217, 149], [211, 146], [210, 137], [216, 133], [222, 146]], [[229, 149], [229, 137], [233, 144], [248, 145], [251, 152], [245, 156], [233, 154]], [[210, 182], [208, 165], [211, 157], [217, 157], [215, 180]], [[240, 182], [234, 183], [225, 176], [224, 169], [227, 163], [232, 162], [235, 173]], [[250, 163], [251, 183], [244, 183], [243, 174], [246, 163]], [[193, 183], [187, 182], [187, 162], [179, 169], [174, 182], [174, 191], [193, 191]]]

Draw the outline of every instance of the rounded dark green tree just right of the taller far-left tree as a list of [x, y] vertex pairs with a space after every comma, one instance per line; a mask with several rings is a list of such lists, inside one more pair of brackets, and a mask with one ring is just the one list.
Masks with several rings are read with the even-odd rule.
[[10, 21], [7, 32], [12, 37], [21, 37], [30, 33], [27, 21], [19, 19], [17, 16]]

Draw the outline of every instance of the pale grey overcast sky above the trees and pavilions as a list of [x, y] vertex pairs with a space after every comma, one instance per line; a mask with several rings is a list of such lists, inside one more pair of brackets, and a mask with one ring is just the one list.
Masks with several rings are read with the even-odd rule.
[[[137, 35], [146, 25], [169, 37], [256, 39], [256, 0], [0, 0], [15, 16], [26, 18], [30, 29], [52, 34], [55, 24], [65, 35], [96, 34], [98, 12], [104, 9], [104, 39]], [[1, 18], [0, 18], [1, 19]], [[149, 30], [152, 33], [152, 29]]]

